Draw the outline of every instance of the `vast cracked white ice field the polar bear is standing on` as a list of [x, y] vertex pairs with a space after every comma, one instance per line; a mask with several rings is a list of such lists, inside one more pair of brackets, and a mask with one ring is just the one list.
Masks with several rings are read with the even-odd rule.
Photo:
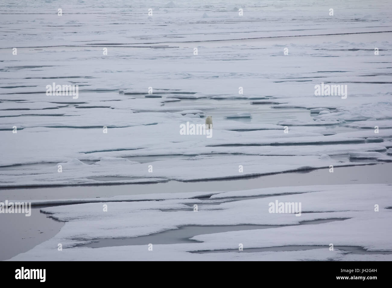
[[[86, 0], [63, 5], [63, 16], [52, 1], [4, 5], [0, 185], [103, 183], [91, 178], [94, 173], [133, 178], [113, 183], [245, 177], [321, 167], [317, 157], [304, 156], [332, 156], [334, 150], [345, 155], [342, 165], [360, 164], [350, 153], [379, 152], [373, 161], [388, 159], [388, 1], [327, 2], [335, 16], [318, 0]], [[292, 25], [299, 29], [287, 29]], [[78, 85], [78, 97], [46, 95], [53, 83]], [[315, 96], [321, 83], [347, 85], [347, 98]], [[180, 135], [181, 124], [203, 124], [205, 116], [214, 119], [211, 138]], [[365, 145], [371, 142], [380, 145]], [[138, 164], [136, 156], [164, 161]], [[278, 156], [290, 157], [283, 165]], [[101, 161], [97, 171], [91, 161], [107, 157], [130, 162]], [[72, 159], [90, 162], [68, 169]], [[212, 162], [214, 175], [203, 168]], [[51, 174], [61, 163], [62, 174]], [[249, 166], [236, 173], [243, 164]], [[148, 165], [154, 172], [145, 173]]]

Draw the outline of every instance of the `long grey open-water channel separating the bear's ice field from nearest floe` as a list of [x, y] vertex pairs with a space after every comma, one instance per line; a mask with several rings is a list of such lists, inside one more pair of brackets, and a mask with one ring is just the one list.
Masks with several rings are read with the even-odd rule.
[[209, 181], [168, 181], [149, 184], [96, 185], [1, 189], [2, 199], [84, 199], [152, 193], [237, 191], [267, 187], [390, 183], [392, 163], [303, 170], [305, 173], [277, 173], [249, 178]]

